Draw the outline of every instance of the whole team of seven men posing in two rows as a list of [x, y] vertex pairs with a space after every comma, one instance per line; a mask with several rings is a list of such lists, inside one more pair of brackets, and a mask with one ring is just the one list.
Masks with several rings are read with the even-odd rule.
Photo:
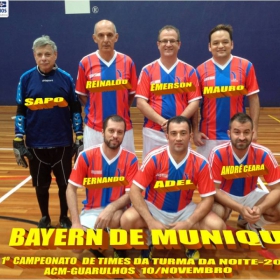
[[[35, 39], [36, 65], [19, 80], [13, 149], [32, 176], [38, 228], [51, 227], [52, 173], [62, 228], [143, 229], [141, 257], [149, 260], [153, 229], [223, 231], [232, 211], [239, 215], [236, 226], [258, 236], [280, 222], [280, 169], [258, 144], [257, 75], [252, 62], [232, 54], [232, 26], [209, 28], [209, 59], [195, 67], [179, 58], [180, 31], [163, 26], [154, 38], [159, 57], [139, 75], [133, 59], [115, 49], [113, 22], [98, 21], [92, 39], [97, 50], [80, 60], [77, 79], [56, 64], [59, 46], [48, 35]], [[143, 117], [139, 159], [134, 105]], [[259, 176], [269, 190], [258, 187]], [[124, 179], [89, 187], [85, 178]], [[159, 190], [167, 181], [176, 189]], [[78, 188], [85, 189], [82, 203]], [[184, 250], [189, 259], [201, 257], [199, 250]], [[114, 249], [113, 256], [126, 253]]]

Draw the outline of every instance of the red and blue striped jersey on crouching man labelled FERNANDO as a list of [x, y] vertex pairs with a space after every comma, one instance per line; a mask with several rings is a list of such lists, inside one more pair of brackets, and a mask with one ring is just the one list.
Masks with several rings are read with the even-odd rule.
[[102, 144], [80, 153], [71, 172], [69, 183], [82, 187], [84, 178], [125, 177], [129, 184], [122, 187], [86, 188], [84, 209], [106, 207], [129, 191], [132, 179], [138, 170], [138, 160], [134, 153], [123, 148], [116, 157], [109, 160], [102, 150]]

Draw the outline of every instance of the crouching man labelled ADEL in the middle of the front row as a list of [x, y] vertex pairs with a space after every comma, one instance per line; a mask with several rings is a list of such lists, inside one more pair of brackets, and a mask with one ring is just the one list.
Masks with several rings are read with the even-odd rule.
[[[207, 229], [223, 230], [225, 224], [211, 211], [216, 193], [207, 160], [189, 148], [190, 120], [176, 116], [167, 122], [168, 145], [153, 150], [136, 174], [130, 191], [133, 207], [122, 216], [125, 230]], [[190, 180], [197, 186], [201, 202], [192, 202], [194, 189], [161, 192], [157, 185], [165, 181]], [[142, 196], [143, 190], [145, 197]], [[150, 244], [148, 244], [150, 245]], [[142, 251], [142, 257], [152, 258], [152, 246]], [[188, 258], [198, 259], [199, 252], [187, 250]]]

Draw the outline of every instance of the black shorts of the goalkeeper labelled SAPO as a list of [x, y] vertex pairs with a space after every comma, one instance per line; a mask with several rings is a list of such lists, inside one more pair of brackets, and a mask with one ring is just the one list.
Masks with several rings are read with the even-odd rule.
[[33, 186], [49, 186], [53, 174], [57, 184], [67, 185], [72, 170], [72, 147], [50, 149], [32, 149], [33, 159], [29, 160], [29, 169]]

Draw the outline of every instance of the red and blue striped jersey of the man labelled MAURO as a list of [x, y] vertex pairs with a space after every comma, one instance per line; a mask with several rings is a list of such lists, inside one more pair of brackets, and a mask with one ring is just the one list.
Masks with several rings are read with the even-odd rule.
[[[248, 95], [259, 92], [253, 64], [237, 56], [232, 56], [228, 63], [221, 66], [212, 59], [197, 68], [200, 89], [215, 86], [243, 85]], [[202, 97], [200, 131], [211, 140], [228, 140], [228, 124], [233, 115], [245, 112], [245, 96], [222, 98]]]

